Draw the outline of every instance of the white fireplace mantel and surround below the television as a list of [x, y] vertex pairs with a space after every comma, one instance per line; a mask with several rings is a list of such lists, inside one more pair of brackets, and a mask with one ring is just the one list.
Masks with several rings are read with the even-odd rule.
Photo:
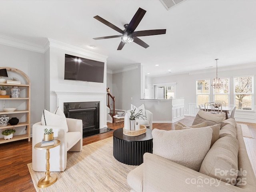
[[100, 102], [100, 128], [104, 128], [104, 109], [106, 108], [106, 92], [53, 91], [57, 95], [57, 104], [64, 110], [66, 102]]

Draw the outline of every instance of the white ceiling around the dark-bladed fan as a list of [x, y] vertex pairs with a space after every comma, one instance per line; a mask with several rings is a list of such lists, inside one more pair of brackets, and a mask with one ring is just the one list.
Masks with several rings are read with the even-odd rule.
[[[166, 29], [117, 50], [119, 33], [93, 17], [123, 29], [138, 8], [146, 14], [135, 31]], [[256, 0], [187, 0], [166, 10], [160, 0], [0, 1], [0, 35], [44, 46], [47, 38], [108, 56], [107, 68], [141, 63], [149, 76], [256, 64]], [[90, 49], [88, 45], [95, 45]], [[159, 66], [155, 66], [159, 64]], [[209, 70], [209, 68], [208, 68]]]

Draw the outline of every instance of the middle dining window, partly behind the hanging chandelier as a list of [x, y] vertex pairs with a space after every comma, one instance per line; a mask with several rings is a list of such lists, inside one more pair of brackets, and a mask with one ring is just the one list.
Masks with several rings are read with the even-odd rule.
[[223, 87], [220, 89], [214, 89], [214, 101], [224, 101], [226, 106], [229, 106], [230, 90], [229, 90], [229, 78], [220, 78], [223, 83]]

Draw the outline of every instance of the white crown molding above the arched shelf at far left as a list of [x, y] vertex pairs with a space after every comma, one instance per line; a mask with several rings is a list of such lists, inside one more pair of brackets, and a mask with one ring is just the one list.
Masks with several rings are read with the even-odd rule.
[[45, 52], [44, 46], [40, 46], [40, 45], [33, 44], [30, 42], [18, 40], [15, 38], [10, 38], [10, 37], [3, 36], [3, 35], [0, 35], [0, 44], [16, 47], [16, 48], [20, 48], [20, 49], [25, 49], [25, 50], [29, 50], [29, 51], [39, 52], [39, 53]]

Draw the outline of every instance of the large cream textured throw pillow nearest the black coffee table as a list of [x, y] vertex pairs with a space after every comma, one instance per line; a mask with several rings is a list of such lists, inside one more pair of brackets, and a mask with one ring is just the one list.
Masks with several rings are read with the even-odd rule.
[[152, 136], [153, 154], [199, 171], [202, 160], [210, 148], [212, 129], [153, 129]]

